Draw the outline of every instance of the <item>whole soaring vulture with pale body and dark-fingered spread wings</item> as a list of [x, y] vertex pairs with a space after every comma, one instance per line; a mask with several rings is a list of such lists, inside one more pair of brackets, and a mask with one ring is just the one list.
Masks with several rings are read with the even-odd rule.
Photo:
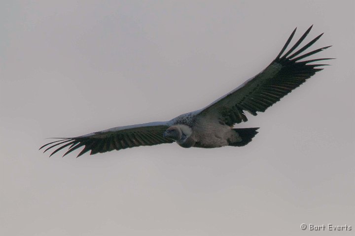
[[[279, 101], [287, 93], [303, 84], [322, 70], [318, 61], [332, 58], [306, 59], [329, 48], [322, 47], [305, 53], [322, 34], [302, 47], [313, 26], [286, 51], [296, 29], [288, 37], [277, 57], [259, 74], [238, 88], [225, 94], [207, 107], [180, 115], [169, 121], [120, 126], [73, 138], [56, 138], [39, 149], [54, 150], [50, 156], [67, 148], [63, 156], [82, 148], [77, 157], [139, 146], [178, 143], [183, 148], [241, 147], [247, 145], [258, 133], [258, 128], [233, 128], [234, 124], [248, 120], [245, 111], [256, 116]], [[299, 48], [299, 49], [298, 49]], [[306, 59], [306, 60], [304, 60]], [[316, 64], [313, 62], [317, 62]], [[54, 148], [54, 149], [53, 149]]]

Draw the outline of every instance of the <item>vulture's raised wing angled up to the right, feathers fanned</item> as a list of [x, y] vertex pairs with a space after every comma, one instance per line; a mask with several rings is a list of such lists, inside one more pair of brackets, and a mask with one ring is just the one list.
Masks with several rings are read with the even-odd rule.
[[330, 58], [300, 61], [301, 59], [307, 58], [330, 47], [323, 47], [309, 53], [304, 53], [304, 51], [311, 47], [322, 34], [295, 51], [310, 32], [312, 26], [307, 29], [301, 38], [286, 53], [284, 53], [296, 29], [293, 30], [279, 55], [268, 67], [256, 76], [247, 80], [238, 88], [200, 110], [197, 116], [200, 118], [217, 118], [220, 122], [224, 122], [227, 125], [247, 121], [248, 119], [244, 114], [244, 111], [248, 111], [254, 116], [257, 115], [256, 112], [264, 112], [268, 107], [279, 101], [291, 90], [304, 83], [317, 71], [322, 70], [323, 68], [319, 68], [319, 66], [327, 64], [309, 63]]

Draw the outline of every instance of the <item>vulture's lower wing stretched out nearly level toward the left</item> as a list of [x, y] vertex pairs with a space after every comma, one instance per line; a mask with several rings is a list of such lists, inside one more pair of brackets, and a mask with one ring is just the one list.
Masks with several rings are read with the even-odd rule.
[[51, 148], [56, 148], [50, 155], [52, 156], [59, 150], [69, 147], [68, 151], [63, 155], [65, 156], [73, 150], [84, 146], [77, 155], [79, 157], [89, 150], [91, 150], [90, 155], [92, 155], [113, 149], [120, 150], [138, 146], [173, 143], [174, 140], [163, 137], [163, 133], [167, 128], [169, 128], [168, 122], [121, 126], [74, 138], [60, 138], [60, 140], [50, 142], [39, 149], [46, 148], [45, 152]]

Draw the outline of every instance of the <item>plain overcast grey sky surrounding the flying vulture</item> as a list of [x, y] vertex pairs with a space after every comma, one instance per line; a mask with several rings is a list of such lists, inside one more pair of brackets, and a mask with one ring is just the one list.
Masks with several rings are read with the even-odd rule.
[[[301, 223], [354, 232], [354, 1], [0, 4], [0, 235], [315, 234]], [[48, 137], [198, 110], [312, 24], [308, 41], [324, 32], [313, 49], [333, 45], [318, 57], [337, 59], [249, 115], [239, 127], [260, 129], [246, 147], [38, 151]]]

